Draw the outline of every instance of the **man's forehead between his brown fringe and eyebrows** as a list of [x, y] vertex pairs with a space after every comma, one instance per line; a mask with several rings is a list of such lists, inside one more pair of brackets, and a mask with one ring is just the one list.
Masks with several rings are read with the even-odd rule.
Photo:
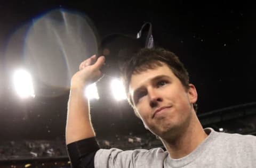
[[158, 76], [166, 75], [169, 77], [175, 77], [172, 70], [163, 63], [162, 66], [157, 66], [154, 69], [148, 69], [146, 71], [132, 74], [131, 81], [129, 85], [129, 94], [132, 94], [133, 91], [143, 85], [147, 85], [151, 80], [157, 78]]

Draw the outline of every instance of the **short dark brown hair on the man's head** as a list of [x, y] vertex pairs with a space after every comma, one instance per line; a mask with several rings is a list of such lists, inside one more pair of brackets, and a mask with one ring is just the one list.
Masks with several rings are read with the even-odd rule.
[[[179, 78], [183, 87], [189, 88], [189, 75], [183, 63], [174, 53], [163, 48], [142, 48], [134, 54], [129, 61], [126, 61], [121, 69], [122, 80], [129, 104], [134, 107], [131, 97], [129, 96], [129, 85], [132, 74], [137, 74], [148, 69], [154, 69], [162, 66], [163, 63], [169, 66], [174, 75]], [[196, 104], [193, 105], [196, 110]], [[137, 114], [138, 116], [138, 114]]]

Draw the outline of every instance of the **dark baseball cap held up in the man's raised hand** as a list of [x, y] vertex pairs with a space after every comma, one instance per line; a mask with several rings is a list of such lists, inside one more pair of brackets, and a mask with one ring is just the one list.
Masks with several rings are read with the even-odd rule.
[[142, 25], [137, 35], [113, 33], [101, 40], [98, 56], [106, 57], [101, 71], [111, 77], [119, 77], [122, 64], [141, 48], [153, 48], [154, 39], [150, 22]]

